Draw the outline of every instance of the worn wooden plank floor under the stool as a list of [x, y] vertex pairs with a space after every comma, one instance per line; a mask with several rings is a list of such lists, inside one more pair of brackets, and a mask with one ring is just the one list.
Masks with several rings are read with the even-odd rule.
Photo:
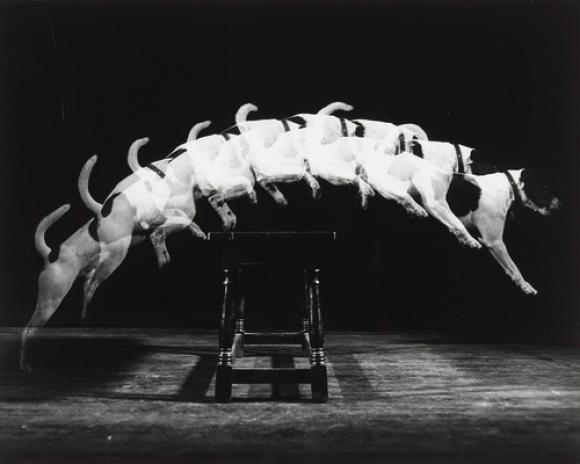
[[[580, 462], [580, 349], [330, 333], [307, 385], [213, 402], [216, 334], [46, 329], [16, 368], [0, 329], [0, 462]], [[300, 366], [248, 349], [247, 367]], [[297, 351], [295, 351], [297, 353]]]

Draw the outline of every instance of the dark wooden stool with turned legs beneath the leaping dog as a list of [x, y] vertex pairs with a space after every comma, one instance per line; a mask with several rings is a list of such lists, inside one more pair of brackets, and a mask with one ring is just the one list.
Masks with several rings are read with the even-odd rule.
[[[216, 369], [216, 401], [228, 402], [232, 384], [309, 383], [316, 402], [328, 399], [324, 331], [320, 310], [320, 261], [325, 245], [336, 239], [334, 232], [219, 232], [209, 239], [221, 248], [224, 273], [219, 355]], [[301, 332], [246, 332], [245, 302], [240, 274], [245, 266], [274, 263], [298, 264], [304, 273], [304, 312]], [[244, 345], [301, 344], [310, 357], [310, 369], [236, 369], [236, 357]]]

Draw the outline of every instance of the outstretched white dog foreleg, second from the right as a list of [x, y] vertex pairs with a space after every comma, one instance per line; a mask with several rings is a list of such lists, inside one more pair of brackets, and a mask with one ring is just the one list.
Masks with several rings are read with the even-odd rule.
[[[431, 216], [446, 226], [459, 243], [469, 248], [481, 248], [481, 244], [467, 232], [465, 226], [453, 214], [445, 200], [449, 182], [446, 183], [445, 187], [441, 186], [439, 189], [435, 189], [433, 187], [434, 178], [424, 172], [413, 176], [411, 182], [421, 195], [423, 207]], [[445, 182], [439, 182], [439, 184], [445, 184]]]

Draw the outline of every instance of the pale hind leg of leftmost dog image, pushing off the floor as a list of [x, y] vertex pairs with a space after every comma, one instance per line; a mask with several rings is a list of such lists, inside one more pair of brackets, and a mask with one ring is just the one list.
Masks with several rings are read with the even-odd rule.
[[71, 289], [78, 276], [76, 265], [57, 261], [47, 265], [38, 278], [38, 299], [30, 321], [20, 337], [20, 368], [30, 371], [27, 347], [30, 338], [44, 327]]

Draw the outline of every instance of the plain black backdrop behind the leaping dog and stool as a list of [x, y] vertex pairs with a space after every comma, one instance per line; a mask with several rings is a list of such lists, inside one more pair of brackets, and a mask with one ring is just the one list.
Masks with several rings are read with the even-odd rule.
[[[564, 334], [578, 329], [579, 8], [577, 2], [157, 1], [1, 2], [0, 323], [32, 313], [42, 261], [38, 221], [70, 202], [51, 245], [89, 219], [78, 172], [100, 158], [91, 190], [103, 199], [128, 174], [138, 137], [154, 160], [211, 119], [222, 130], [240, 104], [262, 117], [316, 111], [415, 122], [434, 140], [490, 148], [508, 166], [543, 170], [564, 202], [546, 219], [521, 212], [506, 241], [540, 291], [524, 298], [484, 251], [461, 249], [433, 220], [410, 220], [354, 191], [323, 185], [309, 202], [232, 205], [241, 229], [330, 229], [340, 241], [323, 271], [334, 329]], [[219, 223], [207, 205], [197, 222]], [[165, 274], [146, 244], [97, 292], [94, 325], [215, 327], [214, 250], [187, 233], [169, 239]], [[292, 279], [266, 281], [254, 316], [286, 320]], [[79, 323], [80, 285], [52, 325]]]

